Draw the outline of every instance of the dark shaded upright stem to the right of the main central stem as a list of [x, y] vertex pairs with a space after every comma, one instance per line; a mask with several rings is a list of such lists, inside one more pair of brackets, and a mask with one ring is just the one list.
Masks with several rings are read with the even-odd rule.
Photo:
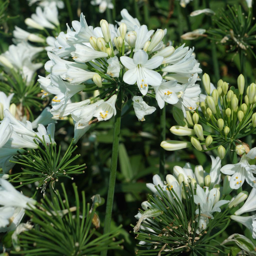
[[[162, 141], [165, 140], [165, 118], [166, 118], [166, 114], [165, 114], [165, 106], [163, 109], [160, 110], [160, 129], [161, 129], [161, 133], [160, 133], [160, 143]], [[160, 147], [160, 159], [159, 159], [159, 174], [161, 176], [161, 178], [165, 177], [165, 150]]]

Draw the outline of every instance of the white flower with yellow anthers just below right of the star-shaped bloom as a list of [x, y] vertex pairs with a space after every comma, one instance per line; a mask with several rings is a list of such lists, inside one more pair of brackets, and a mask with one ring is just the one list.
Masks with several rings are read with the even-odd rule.
[[177, 81], [167, 81], [164, 80], [159, 86], [154, 87], [156, 93], [156, 100], [159, 108], [163, 108], [165, 102], [169, 104], [176, 104], [179, 99], [176, 95], [182, 90], [182, 86], [177, 84]]

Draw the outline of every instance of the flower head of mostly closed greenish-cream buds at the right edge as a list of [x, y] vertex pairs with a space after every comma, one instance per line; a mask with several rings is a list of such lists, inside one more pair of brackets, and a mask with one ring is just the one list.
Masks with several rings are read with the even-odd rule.
[[199, 151], [217, 149], [221, 159], [229, 150], [235, 155], [248, 152], [242, 140], [249, 134], [256, 134], [255, 83], [245, 90], [242, 74], [237, 79], [237, 88], [219, 80], [215, 89], [208, 74], [203, 75], [202, 81], [207, 96], [200, 95], [200, 109], [188, 112], [187, 119], [180, 119], [180, 125], [170, 128], [175, 135], [190, 136], [190, 142], [163, 141], [162, 147], [177, 150], [193, 145]]

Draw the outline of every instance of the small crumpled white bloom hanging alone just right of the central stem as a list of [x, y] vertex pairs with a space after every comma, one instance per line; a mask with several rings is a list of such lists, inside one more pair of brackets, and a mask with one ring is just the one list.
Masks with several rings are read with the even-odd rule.
[[145, 121], [144, 116], [152, 114], [156, 108], [149, 106], [141, 96], [133, 96], [133, 108], [139, 121]]

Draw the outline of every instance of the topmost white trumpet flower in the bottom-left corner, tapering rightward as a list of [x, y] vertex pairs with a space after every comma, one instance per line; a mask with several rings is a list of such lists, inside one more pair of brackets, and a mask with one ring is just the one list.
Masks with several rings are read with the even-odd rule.
[[0, 178], [0, 205], [30, 209], [36, 200], [26, 197], [7, 180]]

